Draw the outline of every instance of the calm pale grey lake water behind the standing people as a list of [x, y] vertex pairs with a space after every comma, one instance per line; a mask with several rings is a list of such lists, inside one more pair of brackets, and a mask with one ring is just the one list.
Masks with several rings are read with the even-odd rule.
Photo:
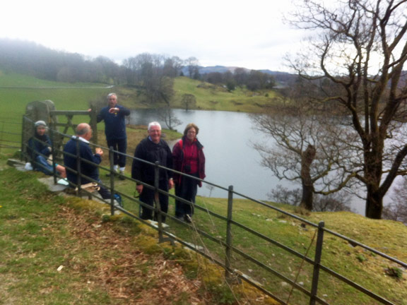
[[[213, 112], [204, 110], [174, 110], [175, 116], [182, 121], [177, 130], [182, 133], [185, 126], [194, 123], [199, 127], [197, 138], [204, 145], [206, 156], [206, 180], [225, 187], [232, 185], [234, 191], [258, 200], [267, 200], [267, 193], [281, 184], [289, 189], [300, 187], [290, 181], [279, 181], [270, 169], [260, 165], [261, 157], [252, 148], [251, 142], [268, 140], [252, 129], [249, 116], [241, 112]], [[153, 109], [132, 110], [129, 123], [147, 125], [159, 121], [167, 128]], [[174, 143], [169, 143], [171, 148]], [[201, 196], [226, 198], [222, 189], [210, 189], [207, 184], [199, 189]], [[351, 203], [356, 213], [365, 213], [365, 202], [354, 198]]]

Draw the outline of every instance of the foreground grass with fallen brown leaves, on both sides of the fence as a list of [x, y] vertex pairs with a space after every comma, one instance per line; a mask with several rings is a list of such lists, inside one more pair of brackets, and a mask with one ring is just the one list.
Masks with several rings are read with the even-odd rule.
[[[0, 159], [2, 158], [0, 156]], [[160, 262], [159, 270], [163, 270], [165, 265], [171, 266], [168, 267], [170, 269], [165, 269], [166, 279], [172, 276], [170, 270], [175, 270], [174, 268], [179, 265], [183, 266], [184, 273], [196, 276], [197, 267], [196, 263], [193, 263], [194, 260], [184, 255], [179, 256], [177, 250], [167, 248], [163, 244], [156, 246], [156, 233], [147, 234], [141, 230], [138, 222], [123, 220], [124, 227], [114, 227], [112, 223], [103, 221], [105, 218], [102, 217], [102, 213], [109, 213], [107, 206], [100, 211], [96, 203], [87, 203], [88, 201], [79, 203], [77, 198], [65, 200], [55, 196], [37, 181], [38, 177], [43, 177], [38, 172], [22, 173], [15, 169], [4, 169], [0, 177], [0, 198], [3, 199], [0, 203], [0, 246], [4, 251], [4, 260], [0, 263], [0, 280], [3, 283], [0, 295], [7, 297], [9, 303], [5, 304], [24, 304], [28, 299], [30, 304], [75, 304], [78, 301], [81, 304], [94, 304], [95, 299], [98, 300], [98, 304], [131, 304], [135, 298], [141, 301], [140, 298], [144, 296], [151, 297], [155, 289], [165, 285], [163, 273], [159, 272], [158, 277], [155, 277], [157, 271], [155, 261]], [[124, 181], [118, 181], [118, 184], [121, 184], [120, 189], [124, 190]], [[129, 186], [126, 193], [133, 190], [134, 186], [133, 188]], [[220, 215], [227, 213], [226, 201], [227, 199], [219, 198], [197, 198], [199, 205]], [[78, 210], [76, 213], [71, 213], [73, 207]], [[127, 199], [124, 201], [124, 207], [137, 213], [136, 205]], [[295, 208], [291, 206], [278, 205], [278, 207], [295, 213]], [[236, 199], [234, 211], [233, 219], [236, 222], [300, 253], [306, 253], [309, 244], [315, 242], [314, 228], [308, 225], [302, 227], [297, 220], [264, 206]], [[173, 213], [174, 205], [171, 200], [170, 214]], [[324, 220], [327, 229], [372, 246], [401, 261], [407, 260], [405, 239], [407, 227], [399, 222], [370, 220], [346, 212], [309, 213], [301, 217], [314, 223]], [[225, 224], [218, 218], [206, 211], [196, 210], [194, 227], [191, 229], [173, 220], [168, 220], [167, 223], [172, 234], [199, 244], [209, 249], [214, 257], [224, 259], [223, 247], [195, 233], [195, 229], [200, 229], [224, 241]], [[139, 232], [141, 234], [138, 234]], [[302, 262], [290, 253], [254, 235], [244, 233], [238, 227], [233, 227], [232, 233], [235, 247], [278, 270], [291, 280], [296, 279], [302, 283], [300, 285], [309, 289], [312, 268], [307, 263], [302, 265]], [[143, 249], [146, 244], [152, 246]], [[147, 251], [153, 256], [146, 256], [141, 251]], [[314, 253], [311, 251], [307, 256], [313, 257]], [[197, 261], [201, 260], [202, 258], [197, 258]], [[281, 299], [288, 299], [290, 287], [283, 285], [283, 280], [271, 273], [265, 273], [254, 264], [242, 262], [237, 254], [232, 257], [231, 263], [263, 283]], [[202, 261], [201, 264], [198, 270], [201, 272], [209, 270], [208, 265]], [[407, 304], [406, 272], [401, 278], [389, 275], [386, 270], [396, 265], [380, 256], [372, 255], [358, 246], [351, 246], [342, 239], [325, 234], [322, 264], [372, 289], [394, 304]], [[142, 285], [140, 278], [143, 275], [148, 275], [147, 278], [153, 280], [148, 280]], [[221, 280], [222, 276], [220, 273], [212, 275], [211, 278]], [[175, 281], [178, 280], [184, 279], [177, 277]], [[320, 280], [319, 295], [329, 304], [377, 304], [324, 272]], [[49, 285], [50, 282], [53, 284]], [[184, 282], [183, 285], [188, 283]], [[75, 293], [69, 293], [73, 287], [76, 287]], [[206, 283], [205, 289], [212, 289], [208, 287], [210, 285]], [[218, 285], [216, 287], [216, 294], [219, 294]], [[190, 298], [199, 297], [196, 293], [184, 294], [182, 298], [185, 301], [177, 304], [191, 304]], [[290, 304], [308, 304], [302, 294], [296, 290], [292, 293]], [[248, 297], [246, 292], [237, 295], [246, 301], [241, 299], [240, 304], [264, 304], [263, 301], [266, 300], [258, 296], [256, 301], [254, 299], [250, 301], [245, 299]], [[156, 294], [155, 297], [175, 298], [178, 295]], [[233, 297], [230, 295], [223, 294], [222, 298], [223, 301], [230, 302], [227, 304], [237, 304], [232, 302]], [[168, 303], [164, 304], [175, 304], [169, 300], [166, 299]], [[158, 304], [144, 301], [141, 304]], [[214, 301], [199, 304], [223, 303]]]

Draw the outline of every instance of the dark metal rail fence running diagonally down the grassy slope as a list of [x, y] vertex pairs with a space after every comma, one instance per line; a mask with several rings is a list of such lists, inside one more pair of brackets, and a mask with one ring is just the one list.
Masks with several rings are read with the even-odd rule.
[[[23, 122], [24, 124], [33, 124], [28, 120], [23, 120]], [[51, 139], [62, 137], [64, 142], [70, 138], [70, 136], [55, 130], [50, 130], [49, 136]], [[95, 147], [92, 143], [90, 145]], [[98, 147], [101, 146], [98, 145]], [[110, 150], [110, 156], [113, 156], [114, 150], [112, 148], [103, 149]], [[61, 146], [53, 147], [52, 151], [61, 155], [64, 154]], [[121, 154], [121, 152], [117, 153]], [[130, 161], [134, 160], [134, 157], [130, 155], [125, 156]], [[78, 177], [92, 180], [81, 174], [81, 162], [88, 161], [81, 159], [80, 155], [71, 155], [71, 157], [76, 157], [78, 166], [76, 169], [66, 170], [76, 173]], [[110, 161], [109, 167], [93, 165], [98, 166], [102, 172], [110, 172], [108, 183], [102, 185], [110, 189], [112, 193], [110, 201], [106, 202], [110, 204], [112, 215], [115, 210], [119, 210], [129, 217], [157, 229], [160, 241], [177, 241], [196, 251], [196, 253], [221, 266], [225, 270], [226, 280], [243, 280], [280, 304], [343, 304], [340, 299], [337, 299], [340, 296], [335, 296], [337, 291], [360, 296], [363, 300], [360, 304], [399, 304], [401, 302], [400, 298], [402, 297], [393, 296], [391, 292], [383, 293], [387, 289], [376, 289], [380, 287], [377, 279], [381, 277], [367, 278], [361, 270], [360, 277], [355, 278], [354, 275], [346, 274], [346, 268], [336, 268], [336, 264], [354, 263], [350, 258], [348, 261], [342, 261], [346, 255], [341, 256], [338, 253], [340, 248], [336, 245], [346, 243], [349, 244], [350, 249], [359, 247], [358, 249], [362, 251], [361, 255], [368, 256], [378, 265], [394, 264], [399, 268], [407, 268], [406, 263], [326, 229], [323, 221], [315, 224], [268, 203], [237, 193], [233, 186], [225, 188], [210, 181], [203, 181], [177, 172], [191, 179], [197, 179], [210, 187], [222, 189], [228, 193], [228, 199], [224, 203], [211, 203], [211, 199], [208, 198], [197, 201], [194, 205], [194, 220], [190, 224], [178, 220], [170, 213], [163, 213], [160, 210], [160, 204], [155, 204], [154, 207], [155, 215], [158, 215], [156, 224], [141, 220], [138, 210], [141, 206], [145, 208], [150, 206], [135, 198], [133, 193], [122, 191], [124, 181], [114, 179], [112, 160]], [[53, 162], [55, 166], [55, 162], [58, 160]], [[159, 189], [160, 169], [175, 172], [173, 169], [162, 167], [158, 162], [155, 164], [146, 163], [155, 168], [155, 184], [148, 185], [131, 177], [123, 176], [126, 184], [134, 184], [134, 186], [136, 183], [143, 184], [144, 187], [155, 190], [157, 194], [169, 196], [172, 201], [176, 199], [191, 204], [171, 192]], [[57, 183], [55, 170], [54, 181]], [[81, 191], [80, 182], [78, 185], [72, 186], [78, 187], [78, 191]], [[114, 193], [119, 193], [124, 198], [124, 206], [114, 205]], [[102, 198], [96, 197], [102, 200]], [[244, 201], [241, 202], [240, 198], [243, 198]], [[170, 227], [162, 222], [161, 216], [163, 215], [170, 223]], [[264, 220], [261, 218], [262, 215], [275, 215], [275, 217]], [[249, 219], [252, 220], [253, 217], [259, 217], [259, 222], [248, 221]], [[288, 232], [285, 235], [278, 232], [279, 228], [283, 227]], [[298, 240], [302, 242], [298, 244]], [[324, 256], [338, 256], [341, 257], [341, 260], [335, 264], [325, 263]], [[370, 288], [364, 287], [365, 284], [368, 284]]]

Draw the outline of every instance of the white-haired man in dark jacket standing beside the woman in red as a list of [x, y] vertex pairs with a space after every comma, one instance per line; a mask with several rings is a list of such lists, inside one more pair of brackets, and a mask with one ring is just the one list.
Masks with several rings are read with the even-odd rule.
[[[141, 140], [141, 142], [137, 145], [136, 151], [134, 152], [134, 157], [151, 163], [158, 161], [160, 162], [161, 166], [172, 168], [172, 153], [165, 140], [161, 140], [161, 126], [158, 122], [151, 122], [148, 124], [148, 137]], [[168, 191], [169, 189], [172, 189], [174, 186], [174, 181], [172, 181], [172, 172], [165, 169], [160, 169], [159, 173], [160, 190]], [[154, 166], [134, 159], [133, 166], [131, 167], [131, 178], [154, 186]], [[141, 208], [141, 219], [153, 219], [153, 202], [155, 191], [143, 186], [142, 184], [137, 184], [136, 191], [140, 194], [141, 202], [151, 205], [151, 208]], [[168, 196], [159, 193], [158, 198], [160, 201], [161, 211], [167, 213]], [[162, 216], [162, 220], [165, 222], [164, 215]]]

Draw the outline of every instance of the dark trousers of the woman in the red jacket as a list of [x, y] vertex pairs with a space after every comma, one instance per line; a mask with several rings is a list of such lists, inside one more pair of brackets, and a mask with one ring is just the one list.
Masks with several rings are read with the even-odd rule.
[[[198, 174], [190, 174], [198, 177]], [[189, 177], [181, 177], [181, 184], [175, 184], [175, 196], [189, 201], [191, 204], [175, 201], [175, 217], [184, 217], [185, 215], [194, 215], [194, 206], [196, 192], [198, 191], [198, 181]]]

